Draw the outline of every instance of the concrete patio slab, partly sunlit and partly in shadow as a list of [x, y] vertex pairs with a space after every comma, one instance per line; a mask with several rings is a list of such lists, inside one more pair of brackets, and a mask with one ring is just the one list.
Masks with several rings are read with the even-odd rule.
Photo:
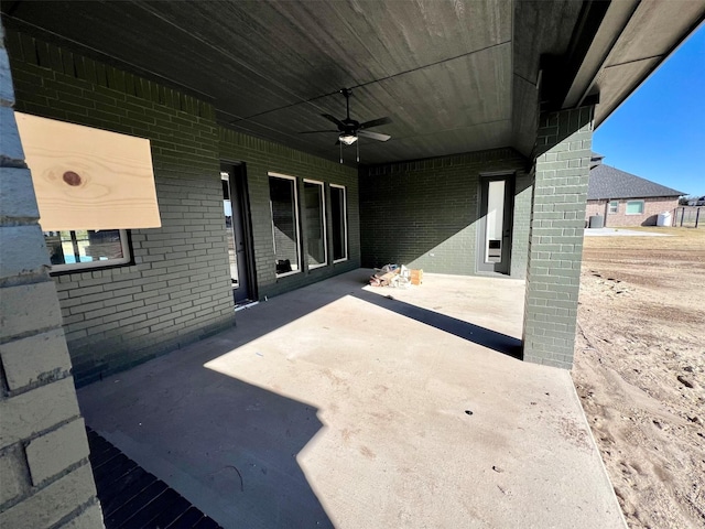
[[522, 281], [369, 274], [83, 388], [87, 423], [227, 528], [626, 527], [568, 371], [514, 357]]

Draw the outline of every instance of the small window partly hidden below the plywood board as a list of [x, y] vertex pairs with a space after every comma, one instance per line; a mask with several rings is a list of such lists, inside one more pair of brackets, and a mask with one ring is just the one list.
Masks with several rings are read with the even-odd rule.
[[131, 262], [124, 229], [44, 231], [53, 272], [112, 267]]

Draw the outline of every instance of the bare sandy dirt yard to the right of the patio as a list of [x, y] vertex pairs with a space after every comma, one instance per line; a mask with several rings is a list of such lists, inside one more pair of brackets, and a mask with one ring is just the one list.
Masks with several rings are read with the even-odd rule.
[[705, 229], [650, 229], [585, 237], [573, 379], [629, 527], [703, 528]]

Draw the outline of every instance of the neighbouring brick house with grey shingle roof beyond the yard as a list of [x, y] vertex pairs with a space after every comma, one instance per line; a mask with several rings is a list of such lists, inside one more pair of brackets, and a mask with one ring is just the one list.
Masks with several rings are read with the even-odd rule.
[[685, 193], [603, 163], [593, 153], [587, 186], [586, 222], [604, 217], [605, 226], [655, 226], [659, 214], [674, 214]]

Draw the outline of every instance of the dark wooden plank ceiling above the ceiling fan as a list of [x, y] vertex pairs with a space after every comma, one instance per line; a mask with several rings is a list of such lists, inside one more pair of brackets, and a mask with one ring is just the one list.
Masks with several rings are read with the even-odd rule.
[[373, 129], [388, 142], [360, 140], [362, 163], [382, 163], [507, 145], [529, 155], [540, 57], [566, 53], [583, 6], [22, 0], [2, 10], [7, 25], [186, 87], [228, 127], [332, 160], [335, 132], [300, 132], [335, 128], [321, 114], [344, 118], [338, 90], [352, 88], [354, 119], [392, 119]]

